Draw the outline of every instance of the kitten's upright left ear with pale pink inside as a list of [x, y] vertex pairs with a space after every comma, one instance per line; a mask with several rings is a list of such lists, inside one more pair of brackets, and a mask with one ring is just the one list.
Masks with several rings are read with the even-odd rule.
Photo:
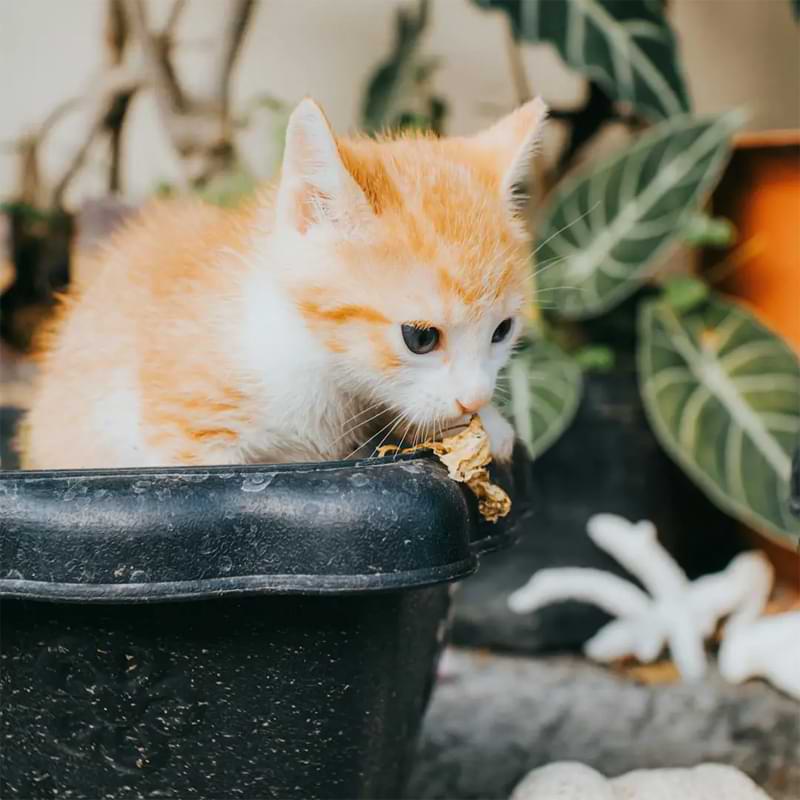
[[277, 209], [279, 218], [300, 233], [323, 222], [354, 224], [370, 213], [328, 120], [308, 98], [289, 117]]

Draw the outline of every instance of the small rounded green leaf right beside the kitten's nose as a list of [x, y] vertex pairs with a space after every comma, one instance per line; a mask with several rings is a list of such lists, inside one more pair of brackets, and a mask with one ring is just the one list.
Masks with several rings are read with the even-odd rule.
[[572, 422], [581, 398], [581, 370], [551, 342], [529, 339], [501, 376], [500, 410], [531, 458], [538, 458]]

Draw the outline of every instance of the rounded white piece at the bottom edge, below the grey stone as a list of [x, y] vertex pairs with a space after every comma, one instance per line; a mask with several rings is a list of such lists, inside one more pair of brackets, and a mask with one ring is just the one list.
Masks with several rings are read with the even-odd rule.
[[639, 769], [605, 778], [585, 764], [562, 761], [533, 770], [510, 800], [769, 800], [734, 767]]

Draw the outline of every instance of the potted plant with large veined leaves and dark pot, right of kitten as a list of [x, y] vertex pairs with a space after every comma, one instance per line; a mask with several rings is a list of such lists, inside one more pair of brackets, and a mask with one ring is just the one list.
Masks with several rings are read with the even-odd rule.
[[[566, 145], [554, 168], [533, 177], [543, 195], [532, 270], [538, 307], [507, 372], [506, 410], [535, 459], [536, 534], [465, 587], [454, 633], [514, 649], [577, 646], [601, 623], [598, 612], [569, 605], [519, 618], [506, 598], [542, 566], [613, 571], [584, 535], [593, 513], [653, 519], [679, 559], [681, 550], [691, 555], [695, 574], [741, 547], [731, 517], [796, 542], [786, 498], [800, 367], [779, 336], [676, 256], [678, 245], [733, 237], [704, 203], [742, 117], [690, 113], [664, 10], [480, 5], [509, 16], [512, 64], [519, 40], [547, 43], [588, 87], [582, 108], [553, 111], [567, 124]], [[609, 122], [627, 127], [630, 143], [588, 158]]]

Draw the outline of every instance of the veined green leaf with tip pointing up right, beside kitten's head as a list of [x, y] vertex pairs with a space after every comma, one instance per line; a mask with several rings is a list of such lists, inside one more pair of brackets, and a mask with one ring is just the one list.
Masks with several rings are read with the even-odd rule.
[[542, 302], [583, 319], [634, 292], [716, 183], [741, 120], [674, 117], [564, 181], [538, 231]]

